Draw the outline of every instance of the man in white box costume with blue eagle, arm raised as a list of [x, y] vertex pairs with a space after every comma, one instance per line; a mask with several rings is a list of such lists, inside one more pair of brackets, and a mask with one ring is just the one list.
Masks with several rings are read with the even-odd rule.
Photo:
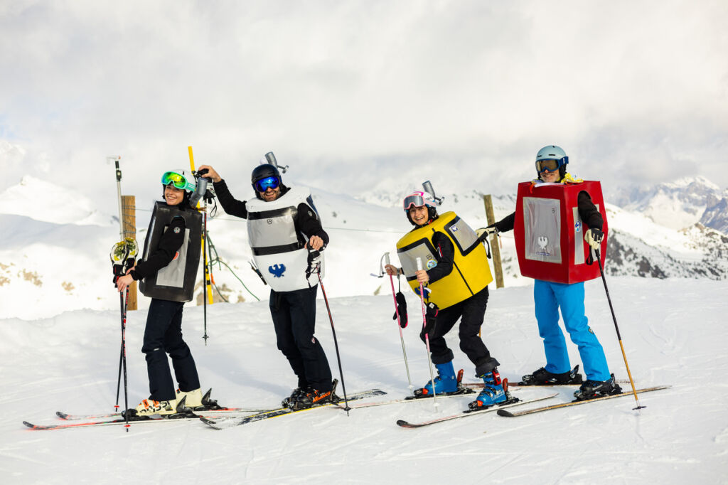
[[240, 201], [213, 167], [202, 165], [199, 170], [205, 168], [225, 212], [248, 219], [253, 259], [271, 287], [269, 306], [277, 346], [298, 376], [298, 386], [283, 400], [283, 406], [304, 409], [331, 401], [331, 368], [314, 336], [316, 272], [323, 266], [319, 251], [328, 244], [328, 234], [309, 192], [283, 185], [278, 168], [264, 163], [250, 178], [256, 198]]

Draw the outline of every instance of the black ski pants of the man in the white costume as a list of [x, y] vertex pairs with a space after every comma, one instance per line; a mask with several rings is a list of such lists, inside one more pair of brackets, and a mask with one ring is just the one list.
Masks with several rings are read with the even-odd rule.
[[331, 368], [314, 336], [318, 285], [296, 291], [271, 290], [269, 305], [278, 349], [298, 376], [298, 387], [331, 390]]

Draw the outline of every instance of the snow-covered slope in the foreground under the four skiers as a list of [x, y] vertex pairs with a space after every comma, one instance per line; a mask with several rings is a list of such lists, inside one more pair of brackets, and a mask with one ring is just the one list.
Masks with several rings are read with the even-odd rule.
[[[382, 281], [382, 280], [380, 280]], [[347, 391], [408, 393], [392, 297], [331, 298], [326, 288]], [[531, 285], [491, 291], [483, 339], [518, 379], [544, 364]], [[510, 483], [724, 484], [728, 481], [728, 282], [612, 277], [609, 291], [638, 387], [671, 385], [632, 397], [526, 417], [495, 413], [416, 430], [419, 421], [465, 409], [469, 398], [352, 410], [318, 409], [216, 431], [201, 422], [33, 431], [21, 422], [52, 423], [55, 411], [112, 411], [119, 364], [119, 312], [76, 310], [42, 320], [0, 320], [0, 476], [4, 484], [116, 483]], [[419, 342], [419, 307], [407, 291], [409, 367], [417, 385], [429, 376]], [[587, 315], [612, 371], [627, 373], [601, 280], [587, 283]], [[127, 330], [130, 404], [146, 397], [140, 352], [146, 312], [130, 312]], [[331, 328], [319, 301], [317, 336], [338, 376]], [[276, 406], [295, 379], [275, 348], [267, 301], [187, 307], [183, 331], [204, 387], [231, 406]], [[456, 368], [475, 382], [448, 342]], [[578, 354], [571, 346], [572, 364]], [[628, 387], [626, 385], [625, 387]], [[553, 402], [569, 399], [560, 388]], [[545, 388], [515, 390], [528, 397]], [[550, 402], [550, 401], [546, 401]]]

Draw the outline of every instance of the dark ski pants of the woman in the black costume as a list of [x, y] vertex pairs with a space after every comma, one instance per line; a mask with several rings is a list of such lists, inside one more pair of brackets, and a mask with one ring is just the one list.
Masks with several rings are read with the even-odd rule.
[[151, 299], [144, 328], [146, 371], [149, 374], [149, 398], [154, 401], [175, 399], [175, 385], [167, 354], [172, 358], [180, 390], [199, 389], [197, 366], [182, 339], [182, 307], [179, 301]]

